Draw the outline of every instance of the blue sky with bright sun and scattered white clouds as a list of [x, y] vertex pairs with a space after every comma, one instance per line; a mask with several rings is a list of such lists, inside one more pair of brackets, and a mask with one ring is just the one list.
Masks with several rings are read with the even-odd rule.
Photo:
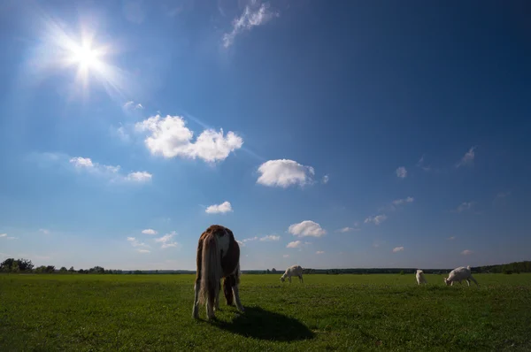
[[0, 259], [529, 260], [531, 6], [0, 4]]

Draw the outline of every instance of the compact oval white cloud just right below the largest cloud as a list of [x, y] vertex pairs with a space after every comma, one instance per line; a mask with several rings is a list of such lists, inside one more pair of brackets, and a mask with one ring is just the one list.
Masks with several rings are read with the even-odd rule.
[[315, 174], [312, 166], [304, 166], [288, 159], [269, 160], [258, 167], [260, 177], [257, 183], [268, 187], [301, 187], [313, 182]]

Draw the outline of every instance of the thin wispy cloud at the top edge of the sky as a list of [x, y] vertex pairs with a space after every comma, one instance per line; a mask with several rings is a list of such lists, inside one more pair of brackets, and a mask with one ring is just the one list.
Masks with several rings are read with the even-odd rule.
[[258, 6], [257, 1], [252, 1], [245, 6], [242, 16], [233, 20], [232, 30], [223, 34], [223, 46], [228, 48], [235, 42], [236, 35], [250, 31], [252, 27], [264, 25], [273, 17], [278, 16], [280, 16], [279, 12], [269, 10], [269, 4], [259, 4]]

